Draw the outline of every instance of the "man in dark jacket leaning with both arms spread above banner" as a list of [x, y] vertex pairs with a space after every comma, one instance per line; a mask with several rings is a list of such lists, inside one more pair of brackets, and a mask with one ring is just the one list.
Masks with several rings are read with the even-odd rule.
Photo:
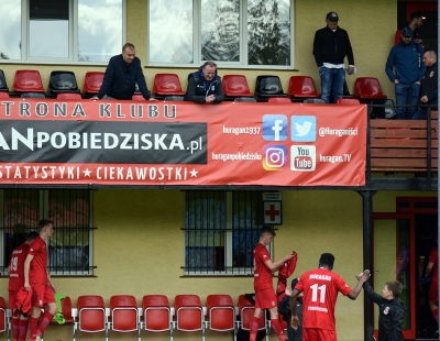
[[127, 43], [122, 47], [122, 54], [110, 58], [101, 88], [98, 95], [91, 99], [131, 99], [136, 82], [142, 96], [146, 100], [151, 99], [142, 72], [141, 59], [135, 54], [134, 45]]

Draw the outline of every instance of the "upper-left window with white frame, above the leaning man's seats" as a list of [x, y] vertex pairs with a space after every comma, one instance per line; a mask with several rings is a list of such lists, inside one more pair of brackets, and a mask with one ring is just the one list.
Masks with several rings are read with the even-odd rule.
[[0, 0], [0, 59], [108, 62], [123, 45], [124, 3]]

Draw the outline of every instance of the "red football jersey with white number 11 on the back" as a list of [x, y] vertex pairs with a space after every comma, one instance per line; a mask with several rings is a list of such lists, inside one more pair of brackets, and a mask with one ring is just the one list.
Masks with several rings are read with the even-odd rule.
[[295, 289], [304, 293], [302, 327], [336, 330], [338, 293], [346, 296], [352, 290], [345, 280], [327, 268], [316, 268], [305, 273]]

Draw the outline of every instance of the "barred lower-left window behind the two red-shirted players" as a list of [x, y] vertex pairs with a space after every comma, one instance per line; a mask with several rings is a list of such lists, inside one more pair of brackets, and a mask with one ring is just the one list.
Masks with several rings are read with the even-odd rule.
[[2, 273], [12, 251], [30, 231], [38, 231], [38, 221], [54, 221], [48, 243], [48, 270], [53, 275], [92, 275], [92, 224], [89, 190], [3, 189], [0, 230]]

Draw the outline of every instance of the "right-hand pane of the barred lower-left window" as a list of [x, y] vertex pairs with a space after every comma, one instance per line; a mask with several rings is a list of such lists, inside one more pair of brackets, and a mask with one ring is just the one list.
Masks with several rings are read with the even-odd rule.
[[50, 240], [52, 272], [89, 271], [89, 216], [88, 190], [48, 190], [48, 217], [55, 227]]

